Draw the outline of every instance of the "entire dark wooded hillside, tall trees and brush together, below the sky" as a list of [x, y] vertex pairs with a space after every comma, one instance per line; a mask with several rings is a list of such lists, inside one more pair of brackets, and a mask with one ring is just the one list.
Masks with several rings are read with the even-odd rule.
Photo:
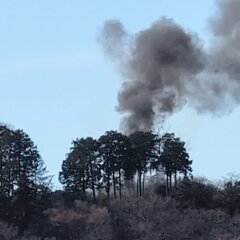
[[[107, 131], [72, 142], [59, 173], [63, 190], [53, 191], [31, 138], [0, 125], [0, 239], [166, 239], [174, 231], [171, 239], [215, 239], [212, 231], [222, 236], [222, 228], [234, 239], [239, 178], [214, 185], [194, 178], [191, 165], [185, 142], [173, 133]], [[185, 220], [168, 231], [169, 219]]]

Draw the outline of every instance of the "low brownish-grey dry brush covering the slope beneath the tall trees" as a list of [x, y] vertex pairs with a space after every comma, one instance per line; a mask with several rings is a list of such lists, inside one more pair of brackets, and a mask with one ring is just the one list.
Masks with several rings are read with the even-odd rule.
[[149, 185], [141, 198], [131, 188], [125, 189], [121, 200], [108, 202], [107, 196], [102, 195], [96, 204], [55, 192], [39, 226], [19, 235], [17, 227], [1, 221], [0, 239], [240, 239], [238, 181], [228, 180], [221, 187], [201, 179], [182, 181], [168, 197], [159, 190], [163, 186], [164, 183]]

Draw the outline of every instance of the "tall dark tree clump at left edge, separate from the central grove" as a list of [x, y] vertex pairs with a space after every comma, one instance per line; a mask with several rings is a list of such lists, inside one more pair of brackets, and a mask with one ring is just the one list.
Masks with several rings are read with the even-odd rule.
[[23, 130], [0, 126], [0, 169], [5, 217], [23, 230], [33, 215], [37, 194], [49, 179], [37, 147]]

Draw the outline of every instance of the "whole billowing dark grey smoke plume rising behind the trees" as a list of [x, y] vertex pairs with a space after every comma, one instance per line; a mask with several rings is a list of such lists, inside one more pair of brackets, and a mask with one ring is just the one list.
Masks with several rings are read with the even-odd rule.
[[117, 20], [105, 23], [101, 44], [124, 79], [117, 110], [125, 133], [150, 130], [185, 104], [218, 115], [240, 103], [239, 12], [239, 0], [219, 3], [210, 51], [171, 19], [134, 35]]

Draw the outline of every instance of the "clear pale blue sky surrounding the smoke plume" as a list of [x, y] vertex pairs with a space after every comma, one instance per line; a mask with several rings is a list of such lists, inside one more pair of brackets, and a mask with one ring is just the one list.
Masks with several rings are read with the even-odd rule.
[[[0, 121], [30, 135], [57, 183], [72, 140], [119, 129], [121, 77], [97, 42], [104, 22], [134, 33], [166, 16], [207, 46], [214, 13], [214, 0], [0, 1]], [[194, 175], [217, 179], [240, 173], [239, 116], [186, 107], [163, 128], [188, 143]]]

